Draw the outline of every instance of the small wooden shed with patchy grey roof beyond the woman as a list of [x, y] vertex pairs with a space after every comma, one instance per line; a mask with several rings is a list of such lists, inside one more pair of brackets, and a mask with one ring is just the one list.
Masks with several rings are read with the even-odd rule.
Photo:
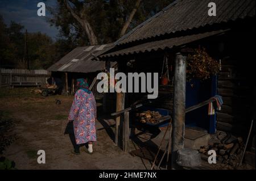
[[[113, 44], [77, 47], [47, 70], [52, 72], [52, 77], [61, 78], [63, 80], [65, 92], [74, 94], [76, 78], [86, 78], [90, 85], [97, 76], [97, 73], [105, 70], [105, 62], [93, 60], [93, 58], [112, 47]], [[96, 94], [96, 89], [94, 89], [93, 92]]]

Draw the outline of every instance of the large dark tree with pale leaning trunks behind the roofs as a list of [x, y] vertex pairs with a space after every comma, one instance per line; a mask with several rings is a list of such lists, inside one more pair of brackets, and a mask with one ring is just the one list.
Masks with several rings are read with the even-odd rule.
[[58, 0], [57, 7], [48, 9], [53, 15], [50, 22], [60, 28], [60, 37], [88, 45], [117, 40], [172, 1]]

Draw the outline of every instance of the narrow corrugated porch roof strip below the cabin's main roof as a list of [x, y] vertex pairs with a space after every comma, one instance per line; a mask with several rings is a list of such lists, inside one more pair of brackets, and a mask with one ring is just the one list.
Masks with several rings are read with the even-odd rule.
[[126, 49], [121, 49], [116, 52], [103, 54], [100, 57], [114, 57], [114, 56], [123, 56], [134, 53], [144, 53], [150, 52], [151, 50], [164, 50], [166, 48], [178, 47], [187, 43], [191, 43], [196, 40], [204, 39], [205, 37], [218, 35], [220, 33], [226, 32], [228, 30], [218, 30], [212, 32], [204, 32], [187, 36], [173, 37], [171, 39], [164, 39], [159, 41], [151, 41], [148, 43], [140, 44], [134, 47], [129, 47]]

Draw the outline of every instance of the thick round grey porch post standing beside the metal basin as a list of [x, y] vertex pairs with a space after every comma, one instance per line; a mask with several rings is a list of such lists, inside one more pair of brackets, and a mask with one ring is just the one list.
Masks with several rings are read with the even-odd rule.
[[172, 123], [172, 169], [179, 169], [176, 164], [176, 152], [184, 147], [185, 131], [185, 95], [186, 61], [181, 53], [176, 53], [174, 73], [174, 121]]

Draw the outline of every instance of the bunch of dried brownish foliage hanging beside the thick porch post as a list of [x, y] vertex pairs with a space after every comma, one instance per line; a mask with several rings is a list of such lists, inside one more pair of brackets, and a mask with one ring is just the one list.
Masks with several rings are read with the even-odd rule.
[[205, 51], [205, 48], [195, 49], [195, 53], [187, 57], [187, 79], [199, 78], [205, 80], [210, 75], [218, 73], [220, 64]]

